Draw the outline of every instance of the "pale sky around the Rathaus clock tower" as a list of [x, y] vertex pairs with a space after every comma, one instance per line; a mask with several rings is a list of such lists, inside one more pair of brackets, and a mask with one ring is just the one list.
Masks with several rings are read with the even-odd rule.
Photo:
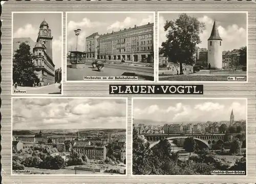
[[13, 13], [13, 37], [30, 37], [36, 42], [40, 24], [46, 20], [52, 32], [52, 57], [55, 68], [61, 67], [61, 13]]

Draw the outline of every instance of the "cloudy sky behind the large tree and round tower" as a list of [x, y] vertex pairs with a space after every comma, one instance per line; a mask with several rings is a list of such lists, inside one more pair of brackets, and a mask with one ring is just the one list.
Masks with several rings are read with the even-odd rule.
[[[166, 20], [175, 20], [180, 13], [160, 13], [159, 14], [159, 47], [166, 40], [164, 24]], [[247, 20], [246, 13], [187, 13], [189, 16], [198, 18], [205, 23], [205, 30], [200, 34], [202, 43], [200, 48], [207, 48], [207, 39], [210, 36], [214, 21], [218, 26], [220, 37], [223, 42], [223, 51], [240, 49], [247, 44]]]

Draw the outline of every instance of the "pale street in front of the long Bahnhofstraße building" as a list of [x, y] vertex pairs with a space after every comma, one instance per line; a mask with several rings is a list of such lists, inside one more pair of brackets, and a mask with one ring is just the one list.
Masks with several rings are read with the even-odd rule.
[[154, 80], [154, 68], [144, 66], [131, 66], [124, 64], [104, 64], [104, 70], [98, 72], [90, 63], [86, 67], [76, 69], [67, 68], [68, 81], [81, 81], [84, 76], [137, 76], [138, 80]]

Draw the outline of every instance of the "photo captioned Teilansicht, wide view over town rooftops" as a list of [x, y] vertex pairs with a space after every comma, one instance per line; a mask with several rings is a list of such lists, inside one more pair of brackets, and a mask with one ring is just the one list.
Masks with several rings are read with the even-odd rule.
[[125, 98], [12, 101], [12, 174], [126, 175]]

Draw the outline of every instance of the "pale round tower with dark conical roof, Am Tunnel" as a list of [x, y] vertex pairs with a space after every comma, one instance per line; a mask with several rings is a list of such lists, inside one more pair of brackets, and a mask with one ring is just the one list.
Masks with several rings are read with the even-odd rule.
[[209, 64], [211, 68], [222, 68], [222, 39], [215, 21], [208, 38], [208, 66]]

